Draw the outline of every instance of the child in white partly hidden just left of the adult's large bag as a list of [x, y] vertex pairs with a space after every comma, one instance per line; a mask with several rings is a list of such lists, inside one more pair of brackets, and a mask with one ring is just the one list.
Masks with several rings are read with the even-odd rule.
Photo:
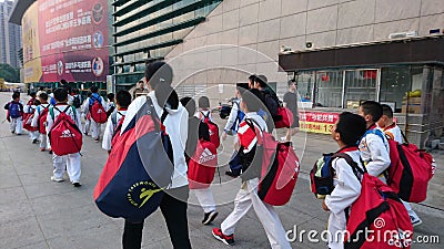
[[119, 91], [117, 96], [117, 104], [118, 111], [113, 112], [110, 117], [108, 117], [107, 126], [103, 133], [102, 148], [108, 153], [111, 152], [111, 142], [114, 136], [114, 131], [121, 123], [121, 120], [124, 118], [128, 106], [131, 104], [130, 92], [125, 90]]

